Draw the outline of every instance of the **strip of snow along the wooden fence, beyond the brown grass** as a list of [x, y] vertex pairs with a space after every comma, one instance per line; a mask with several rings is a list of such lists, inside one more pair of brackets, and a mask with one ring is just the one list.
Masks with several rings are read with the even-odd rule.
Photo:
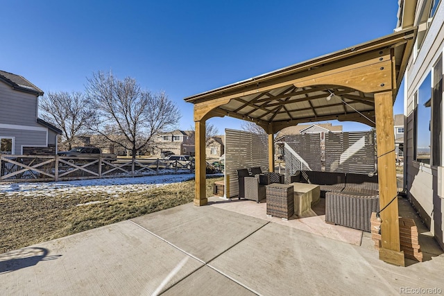
[[0, 184], [0, 195], [37, 197], [71, 194], [89, 195], [90, 193], [107, 193], [110, 197], [121, 193], [144, 191], [155, 186], [179, 183], [190, 180], [194, 174], [153, 175], [146, 177], [117, 177], [109, 179], [76, 180], [60, 182], [23, 182]]

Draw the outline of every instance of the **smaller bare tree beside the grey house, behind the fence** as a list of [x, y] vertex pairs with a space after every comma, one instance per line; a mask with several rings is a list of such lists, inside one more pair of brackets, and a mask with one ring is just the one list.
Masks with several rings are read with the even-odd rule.
[[48, 92], [39, 105], [42, 119], [62, 130], [62, 141], [67, 143], [69, 149], [76, 137], [85, 132], [92, 118], [87, 98], [80, 92]]

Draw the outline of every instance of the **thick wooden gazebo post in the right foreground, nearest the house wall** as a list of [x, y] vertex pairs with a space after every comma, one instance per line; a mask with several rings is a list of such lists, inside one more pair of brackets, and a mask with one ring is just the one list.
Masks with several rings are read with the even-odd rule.
[[391, 91], [375, 94], [375, 115], [379, 209], [382, 210], [380, 212], [382, 247], [379, 249], [379, 259], [404, 266], [404, 252], [400, 250], [393, 93]]

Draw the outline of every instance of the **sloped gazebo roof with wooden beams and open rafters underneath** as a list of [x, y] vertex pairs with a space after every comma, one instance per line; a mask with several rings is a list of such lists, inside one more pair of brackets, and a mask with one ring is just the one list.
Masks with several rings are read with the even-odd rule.
[[[254, 121], [262, 126], [275, 123], [275, 131], [298, 123], [334, 119], [359, 121], [374, 126], [375, 89], [379, 92], [393, 89], [394, 101], [411, 52], [411, 46], [407, 45], [412, 43], [415, 32], [408, 29], [393, 33], [189, 96], [185, 101], [198, 106], [210, 105], [214, 100], [228, 99], [227, 103], [212, 109], [214, 116], [232, 116]], [[371, 69], [366, 67], [369, 63], [373, 64]], [[347, 68], [355, 70], [353, 76], [348, 75], [337, 81], [338, 84], [326, 79], [332, 74], [347, 71]], [[360, 83], [358, 89], [356, 82], [363, 81], [366, 85]], [[327, 101], [330, 94], [334, 96]]]

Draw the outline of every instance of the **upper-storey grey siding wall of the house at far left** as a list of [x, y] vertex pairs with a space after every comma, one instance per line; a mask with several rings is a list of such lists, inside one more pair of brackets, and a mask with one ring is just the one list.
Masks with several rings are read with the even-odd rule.
[[37, 98], [34, 94], [19, 92], [0, 81], [0, 123], [40, 126], [37, 123]]

